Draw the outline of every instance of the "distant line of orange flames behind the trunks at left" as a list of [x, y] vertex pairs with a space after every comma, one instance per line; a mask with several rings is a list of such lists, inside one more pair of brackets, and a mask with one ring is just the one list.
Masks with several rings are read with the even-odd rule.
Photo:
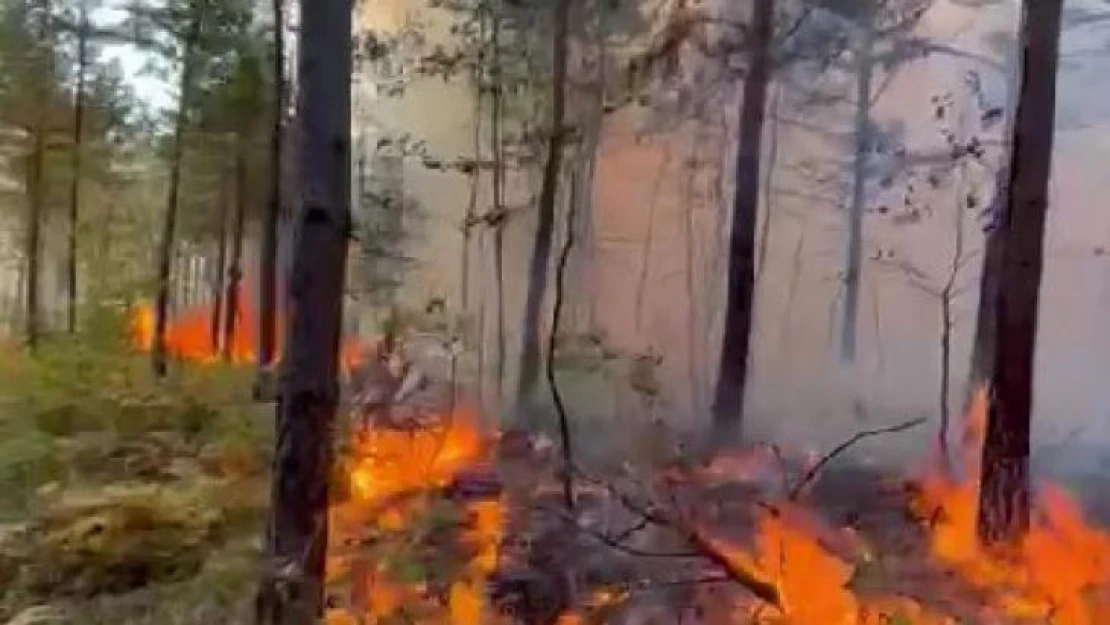
[[[212, 304], [191, 306], [179, 311], [167, 323], [167, 353], [176, 360], [194, 364], [213, 364], [225, 360], [234, 364], [252, 364], [256, 361], [255, 337], [259, 332], [258, 313], [245, 302], [246, 298], [236, 298], [234, 312], [234, 329], [228, 336], [225, 332], [226, 313], [216, 310]], [[284, 314], [278, 313], [276, 326], [284, 327]], [[154, 337], [154, 308], [150, 302], [140, 302], [131, 311], [131, 345], [149, 352]], [[214, 329], [213, 329], [214, 326]], [[276, 354], [282, 353], [282, 333], [276, 336]], [[344, 371], [350, 371], [365, 357], [365, 345], [354, 339], [343, 341], [340, 349], [340, 363]]]

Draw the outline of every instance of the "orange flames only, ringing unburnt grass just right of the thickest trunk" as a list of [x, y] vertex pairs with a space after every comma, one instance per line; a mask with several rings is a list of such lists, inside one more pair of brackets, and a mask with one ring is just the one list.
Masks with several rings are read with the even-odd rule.
[[[488, 445], [474, 424], [474, 419], [460, 414], [415, 430], [359, 432], [344, 463], [350, 498], [331, 511], [332, 544], [350, 542], [367, 527], [379, 533], [415, 533], [418, 520], [430, 510], [427, 495], [488, 461]], [[456, 541], [471, 555], [454, 574], [446, 597], [430, 596], [422, 582], [398, 581], [384, 568], [381, 557], [344, 555], [333, 548], [327, 562], [331, 579], [362, 573], [351, 589], [350, 605], [333, 609], [329, 623], [385, 622], [412, 606], [427, 613], [415, 621], [427, 625], [493, 623], [485, 586], [497, 566], [504, 504], [500, 497], [483, 498], [462, 504], [461, 511], [468, 522]]]

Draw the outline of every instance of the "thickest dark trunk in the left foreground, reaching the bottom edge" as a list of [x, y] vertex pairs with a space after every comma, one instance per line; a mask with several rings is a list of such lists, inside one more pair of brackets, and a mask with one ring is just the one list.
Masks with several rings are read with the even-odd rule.
[[331, 434], [351, 229], [351, 0], [301, 2], [302, 206], [278, 392], [265, 625], [315, 625], [323, 613]]

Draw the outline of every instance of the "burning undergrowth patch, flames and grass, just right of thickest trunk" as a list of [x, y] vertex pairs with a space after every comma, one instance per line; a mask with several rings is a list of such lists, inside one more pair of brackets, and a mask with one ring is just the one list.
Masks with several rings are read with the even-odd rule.
[[340, 588], [340, 607], [329, 623], [398, 614], [414, 623], [491, 622], [486, 579], [497, 566], [503, 503], [496, 487], [460, 485], [487, 466], [490, 443], [464, 414], [355, 432], [341, 462], [346, 496], [331, 507], [327, 578]]

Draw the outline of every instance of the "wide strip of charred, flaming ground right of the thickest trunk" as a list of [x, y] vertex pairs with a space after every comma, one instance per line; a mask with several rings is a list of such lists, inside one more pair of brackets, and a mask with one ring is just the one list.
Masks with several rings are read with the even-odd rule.
[[456, 411], [353, 435], [332, 507], [331, 623], [1110, 622], [1110, 535], [1041, 488], [1027, 538], [975, 540], [982, 399], [961, 475], [909, 481], [769, 446], [575, 468]]

